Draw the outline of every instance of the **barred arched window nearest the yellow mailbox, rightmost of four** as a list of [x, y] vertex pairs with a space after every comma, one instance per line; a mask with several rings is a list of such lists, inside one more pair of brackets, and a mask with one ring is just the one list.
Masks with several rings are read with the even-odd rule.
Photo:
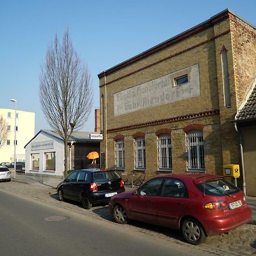
[[187, 132], [188, 170], [204, 171], [203, 131]]

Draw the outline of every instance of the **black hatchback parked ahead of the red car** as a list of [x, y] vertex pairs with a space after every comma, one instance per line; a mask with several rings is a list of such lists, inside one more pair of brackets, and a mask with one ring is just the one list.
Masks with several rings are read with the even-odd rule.
[[115, 171], [85, 169], [73, 171], [57, 185], [60, 201], [70, 199], [90, 209], [93, 204], [109, 203], [110, 197], [125, 191], [125, 183]]

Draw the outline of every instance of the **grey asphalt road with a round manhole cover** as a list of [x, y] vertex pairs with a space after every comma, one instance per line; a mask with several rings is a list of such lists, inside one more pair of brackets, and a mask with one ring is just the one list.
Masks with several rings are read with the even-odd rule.
[[[114, 222], [0, 191], [0, 254], [12, 255], [195, 255], [176, 243], [127, 233]], [[197, 255], [210, 255], [206, 252]]]

